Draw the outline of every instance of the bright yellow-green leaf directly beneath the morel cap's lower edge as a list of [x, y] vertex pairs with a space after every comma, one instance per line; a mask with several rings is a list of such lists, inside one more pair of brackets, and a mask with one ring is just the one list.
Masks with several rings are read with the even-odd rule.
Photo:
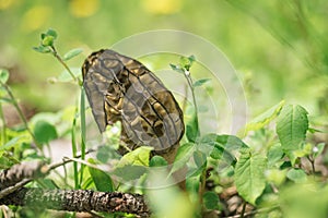
[[122, 156], [117, 164], [117, 167], [122, 167], [126, 165], [133, 165], [133, 166], [149, 166], [149, 158], [150, 153], [152, 152], [153, 147], [149, 146], [141, 146], [137, 149], [127, 153], [125, 156]]

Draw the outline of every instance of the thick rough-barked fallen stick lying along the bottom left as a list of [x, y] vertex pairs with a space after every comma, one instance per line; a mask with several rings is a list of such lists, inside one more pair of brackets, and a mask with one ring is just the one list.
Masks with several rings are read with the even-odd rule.
[[0, 199], [0, 205], [44, 207], [67, 211], [127, 213], [150, 217], [150, 210], [142, 195], [121, 192], [22, 187]]

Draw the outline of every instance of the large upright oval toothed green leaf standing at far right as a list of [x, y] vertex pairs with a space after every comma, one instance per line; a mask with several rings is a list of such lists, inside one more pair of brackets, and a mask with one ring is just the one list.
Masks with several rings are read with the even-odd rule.
[[300, 148], [308, 130], [307, 111], [301, 106], [289, 105], [281, 110], [277, 121], [277, 134], [285, 154], [295, 164], [294, 152]]

